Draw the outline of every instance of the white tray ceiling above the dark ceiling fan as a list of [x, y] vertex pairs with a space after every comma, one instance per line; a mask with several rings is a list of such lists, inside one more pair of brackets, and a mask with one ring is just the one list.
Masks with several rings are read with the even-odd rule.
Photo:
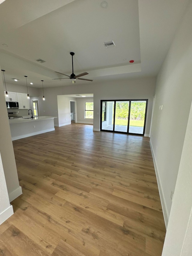
[[[6, 0], [0, 5], [0, 65], [6, 82], [34, 87], [156, 76], [189, 0]], [[103, 42], [113, 40], [106, 49]], [[7, 46], [6, 46], [6, 45]], [[36, 59], [46, 62], [39, 63]], [[134, 63], [129, 63], [134, 60]], [[11, 78], [19, 79], [14, 82]]]

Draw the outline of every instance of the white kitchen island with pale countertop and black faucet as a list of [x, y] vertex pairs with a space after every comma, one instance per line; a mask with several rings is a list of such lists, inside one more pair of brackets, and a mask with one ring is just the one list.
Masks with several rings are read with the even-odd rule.
[[29, 136], [55, 131], [55, 116], [37, 116], [34, 118], [9, 119], [11, 139], [19, 140]]

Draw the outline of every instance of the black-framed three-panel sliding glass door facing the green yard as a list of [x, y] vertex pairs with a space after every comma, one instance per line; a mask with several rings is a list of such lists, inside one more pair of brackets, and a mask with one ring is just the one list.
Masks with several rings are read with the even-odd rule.
[[144, 135], [148, 100], [101, 100], [101, 131]]

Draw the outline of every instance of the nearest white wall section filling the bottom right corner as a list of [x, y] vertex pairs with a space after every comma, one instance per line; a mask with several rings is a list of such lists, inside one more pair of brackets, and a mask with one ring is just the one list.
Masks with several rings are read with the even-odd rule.
[[192, 255], [192, 105], [162, 256]]

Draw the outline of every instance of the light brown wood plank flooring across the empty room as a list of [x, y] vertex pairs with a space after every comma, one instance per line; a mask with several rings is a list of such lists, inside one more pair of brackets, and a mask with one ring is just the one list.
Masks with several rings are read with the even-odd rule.
[[161, 255], [149, 138], [92, 129], [72, 124], [13, 141], [23, 194], [0, 226], [0, 255]]

